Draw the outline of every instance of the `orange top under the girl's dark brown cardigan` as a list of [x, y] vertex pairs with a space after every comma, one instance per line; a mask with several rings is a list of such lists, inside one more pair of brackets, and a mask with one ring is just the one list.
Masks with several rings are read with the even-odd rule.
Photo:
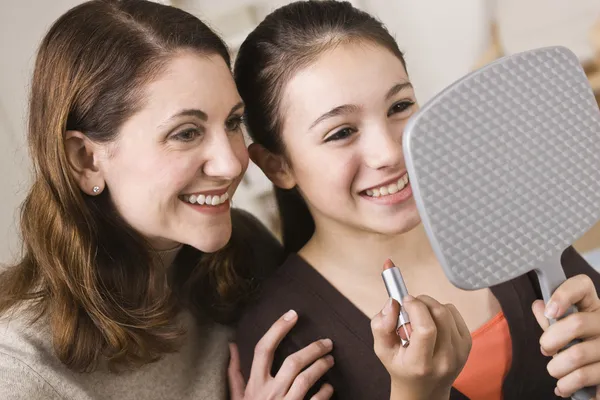
[[500, 311], [471, 337], [471, 353], [454, 387], [471, 400], [502, 400], [502, 383], [512, 361], [504, 313]]

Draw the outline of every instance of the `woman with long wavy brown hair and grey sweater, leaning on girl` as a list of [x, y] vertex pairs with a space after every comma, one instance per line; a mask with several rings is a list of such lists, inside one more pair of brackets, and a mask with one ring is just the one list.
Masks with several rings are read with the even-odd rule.
[[331, 343], [271, 377], [293, 312], [260, 341], [247, 388], [235, 348], [229, 362], [225, 324], [280, 250], [230, 212], [248, 154], [222, 40], [176, 8], [86, 2], [42, 41], [29, 111], [35, 175], [24, 256], [0, 275], [0, 397], [225, 399], [229, 364], [234, 399], [303, 398]]

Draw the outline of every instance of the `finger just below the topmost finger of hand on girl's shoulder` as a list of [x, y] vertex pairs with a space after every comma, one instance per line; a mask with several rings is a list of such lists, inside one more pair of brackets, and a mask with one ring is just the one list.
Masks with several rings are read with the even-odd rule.
[[[275, 384], [279, 393], [287, 393], [300, 372], [333, 349], [331, 339], [317, 340], [289, 355], [275, 375]], [[314, 383], [314, 382], [313, 382]]]

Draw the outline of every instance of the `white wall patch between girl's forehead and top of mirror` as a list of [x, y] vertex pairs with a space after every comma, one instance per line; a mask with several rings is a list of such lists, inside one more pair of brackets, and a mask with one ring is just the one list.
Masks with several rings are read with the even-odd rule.
[[487, 0], [361, 0], [394, 34], [423, 105], [472, 71], [490, 42]]

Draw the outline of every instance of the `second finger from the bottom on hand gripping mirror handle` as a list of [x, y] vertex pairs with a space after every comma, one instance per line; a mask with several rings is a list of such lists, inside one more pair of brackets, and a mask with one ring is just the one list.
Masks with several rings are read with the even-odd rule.
[[548, 363], [551, 376], [561, 379], [571, 372], [600, 361], [600, 339], [577, 343], [558, 353]]

